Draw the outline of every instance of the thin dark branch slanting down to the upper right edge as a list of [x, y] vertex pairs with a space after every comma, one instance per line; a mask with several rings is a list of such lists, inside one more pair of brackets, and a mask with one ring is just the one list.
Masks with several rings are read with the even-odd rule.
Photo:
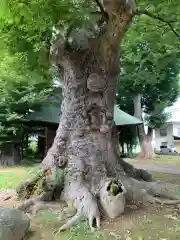
[[[136, 10], [136, 11], [134, 12], [134, 14], [135, 14], [135, 15], [147, 15], [148, 17], [151, 17], [151, 18], [154, 18], [154, 19], [156, 19], [156, 20], [159, 20], [159, 21], [161, 21], [161, 22], [166, 23], [166, 24], [170, 27], [171, 31], [176, 35], [176, 37], [180, 38], [180, 34], [173, 28], [173, 25], [172, 25], [172, 22], [171, 22], [171, 21], [167, 21], [167, 20], [165, 20], [164, 18], [162, 18], [161, 16], [159, 16], [159, 15], [154, 15], [154, 14], [148, 12], [147, 10]], [[173, 22], [174, 22], [174, 21], [173, 21]]]

